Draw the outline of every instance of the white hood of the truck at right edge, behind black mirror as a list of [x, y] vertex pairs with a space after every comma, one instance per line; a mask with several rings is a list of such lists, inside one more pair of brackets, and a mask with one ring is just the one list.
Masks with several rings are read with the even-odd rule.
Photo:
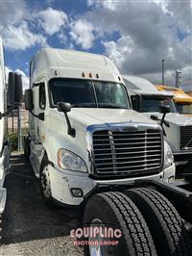
[[[156, 115], [159, 119], [162, 118], [162, 114], [154, 112], [154, 113], [145, 113], [145, 115], [151, 116]], [[177, 124], [180, 126], [183, 125], [192, 125], [192, 117], [186, 115], [180, 115], [177, 113], [170, 113], [165, 116], [165, 120], [169, 123]]]

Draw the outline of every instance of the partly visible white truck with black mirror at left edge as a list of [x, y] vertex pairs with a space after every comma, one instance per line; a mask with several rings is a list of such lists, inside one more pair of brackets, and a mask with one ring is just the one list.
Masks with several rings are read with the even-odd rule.
[[10, 167], [7, 115], [18, 106], [21, 97], [21, 75], [10, 72], [8, 86], [6, 84], [3, 43], [0, 38], [0, 215], [5, 210], [7, 191], [4, 188], [4, 181]]

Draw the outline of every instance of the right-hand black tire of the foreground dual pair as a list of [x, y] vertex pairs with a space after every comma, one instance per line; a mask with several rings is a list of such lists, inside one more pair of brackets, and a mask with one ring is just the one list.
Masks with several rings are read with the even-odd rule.
[[149, 188], [132, 189], [125, 193], [145, 218], [158, 255], [192, 255], [184, 224], [167, 198]]

